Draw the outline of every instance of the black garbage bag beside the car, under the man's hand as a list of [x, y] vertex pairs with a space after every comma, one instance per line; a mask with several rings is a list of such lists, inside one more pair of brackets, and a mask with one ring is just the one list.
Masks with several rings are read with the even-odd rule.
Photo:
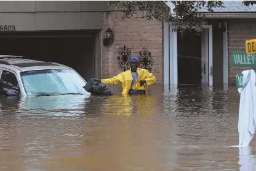
[[91, 93], [92, 96], [112, 96], [111, 89], [108, 85], [102, 82], [96, 81], [91, 78], [84, 86], [87, 92]]

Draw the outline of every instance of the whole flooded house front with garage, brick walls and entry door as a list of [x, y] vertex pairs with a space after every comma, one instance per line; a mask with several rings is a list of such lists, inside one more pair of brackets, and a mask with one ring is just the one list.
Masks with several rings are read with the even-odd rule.
[[[144, 12], [122, 20], [104, 1], [1, 1], [0, 53], [66, 64], [86, 80], [113, 77], [124, 70], [126, 55], [144, 54], [158, 83], [232, 85], [249, 67], [232, 66], [231, 53], [245, 51], [256, 31], [256, 10], [241, 2], [206, 13], [204, 31], [195, 36], [147, 21]], [[108, 28], [113, 41], [105, 45]]]

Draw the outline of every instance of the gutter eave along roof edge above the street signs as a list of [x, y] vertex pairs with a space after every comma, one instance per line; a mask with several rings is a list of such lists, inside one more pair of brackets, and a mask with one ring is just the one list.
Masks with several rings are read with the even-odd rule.
[[256, 18], [256, 12], [218, 12], [218, 13], [204, 13], [206, 18]]

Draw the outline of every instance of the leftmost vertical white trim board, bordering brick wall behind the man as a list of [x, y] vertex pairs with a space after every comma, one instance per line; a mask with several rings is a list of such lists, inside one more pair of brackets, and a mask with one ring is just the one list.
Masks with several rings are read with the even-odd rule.
[[164, 22], [164, 85], [169, 85], [169, 23]]

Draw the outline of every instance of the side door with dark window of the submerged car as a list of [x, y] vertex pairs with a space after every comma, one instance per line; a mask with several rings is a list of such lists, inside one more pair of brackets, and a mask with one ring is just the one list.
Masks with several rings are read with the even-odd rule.
[[0, 93], [3, 93], [3, 89], [12, 89], [20, 93], [20, 85], [18, 83], [17, 75], [15, 72], [7, 69], [1, 69], [0, 77]]

